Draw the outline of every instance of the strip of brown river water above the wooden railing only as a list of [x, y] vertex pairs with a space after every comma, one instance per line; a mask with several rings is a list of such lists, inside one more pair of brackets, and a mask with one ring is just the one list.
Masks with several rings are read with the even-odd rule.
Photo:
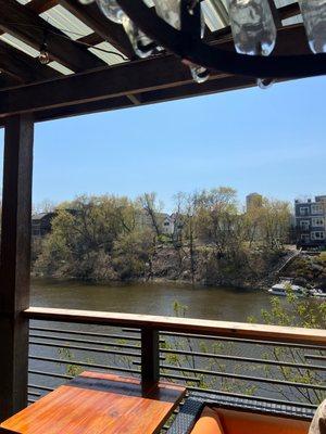
[[173, 305], [187, 306], [186, 316], [246, 322], [268, 308], [271, 296], [263, 291], [234, 288], [192, 286], [183, 283], [89, 284], [72, 281], [35, 280], [32, 305], [85, 310], [175, 316]]

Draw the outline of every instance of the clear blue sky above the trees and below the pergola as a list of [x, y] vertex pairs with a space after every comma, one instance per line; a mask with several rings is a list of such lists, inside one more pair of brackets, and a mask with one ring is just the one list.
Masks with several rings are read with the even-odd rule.
[[175, 193], [220, 186], [240, 203], [326, 194], [325, 104], [319, 77], [37, 124], [34, 203], [154, 191], [173, 210]]

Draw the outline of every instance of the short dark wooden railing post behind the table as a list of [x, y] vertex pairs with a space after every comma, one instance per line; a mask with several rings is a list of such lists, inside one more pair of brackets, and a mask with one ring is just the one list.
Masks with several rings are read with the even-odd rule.
[[160, 381], [159, 331], [141, 329], [141, 382], [146, 387]]

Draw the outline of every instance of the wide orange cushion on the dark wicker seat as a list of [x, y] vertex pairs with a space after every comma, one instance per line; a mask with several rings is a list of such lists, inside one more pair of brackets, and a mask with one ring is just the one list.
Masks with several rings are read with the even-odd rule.
[[308, 434], [309, 422], [269, 414], [214, 408], [224, 434]]

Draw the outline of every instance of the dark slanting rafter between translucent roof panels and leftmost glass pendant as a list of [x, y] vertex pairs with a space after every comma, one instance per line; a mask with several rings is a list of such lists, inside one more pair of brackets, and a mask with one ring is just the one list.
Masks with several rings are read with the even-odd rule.
[[96, 3], [85, 5], [80, 4], [78, 0], [59, 0], [59, 2], [90, 27], [101, 40], [110, 42], [128, 59], [135, 59], [135, 52], [123, 26], [105, 18]]

